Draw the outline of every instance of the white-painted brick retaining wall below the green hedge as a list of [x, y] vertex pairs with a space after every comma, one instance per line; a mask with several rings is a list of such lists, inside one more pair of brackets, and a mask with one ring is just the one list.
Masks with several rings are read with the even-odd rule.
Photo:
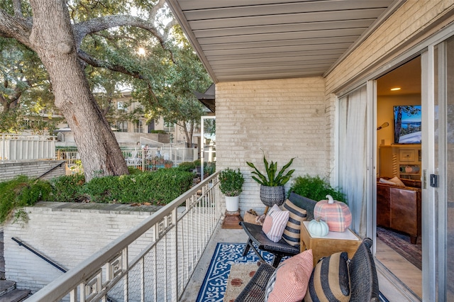
[[[113, 207], [116, 209], [109, 210]], [[31, 289], [34, 293], [63, 274], [20, 247], [11, 237], [23, 241], [63, 269], [71, 269], [148, 218], [156, 207], [138, 210], [138, 207], [128, 205], [47, 202], [26, 208], [28, 223], [4, 225], [6, 279], [16, 281], [18, 288]], [[145, 233], [135, 244], [145, 246], [152, 239], [153, 234]], [[133, 250], [129, 256], [133, 257]]]

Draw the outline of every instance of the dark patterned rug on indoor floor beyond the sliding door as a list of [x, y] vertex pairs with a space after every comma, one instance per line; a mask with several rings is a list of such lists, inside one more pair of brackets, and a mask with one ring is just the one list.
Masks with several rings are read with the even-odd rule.
[[377, 227], [377, 236], [387, 246], [402, 255], [408, 262], [415, 267], [421, 269], [422, 267], [422, 245], [421, 236], [418, 237], [416, 245], [411, 244], [410, 236], [402, 233], [394, 232], [387, 228]]

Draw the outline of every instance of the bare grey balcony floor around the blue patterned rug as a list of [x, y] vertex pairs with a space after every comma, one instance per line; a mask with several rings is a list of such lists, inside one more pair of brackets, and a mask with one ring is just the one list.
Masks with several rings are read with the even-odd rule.
[[[248, 237], [245, 235], [243, 230], [226, 230], [222, 229], [221, 225], [218, 225], [218, 228], [214, 231], [214, 235], [211, 237], [204, 254], [201, 256], [200, 262], [194, 270], [194, 274], [192, 275], [192, 278], [189, 281], [186, 291], [184, 291], [180, 301], [196, 301], [200, 286], [204, 281], [206, 271], [211, 262], [211, 257], [214, 254], [214, 250], [218, 242], [245, 243], [247, 240]], [[390, 302], [420, 301], [419, 298], [416, 298], [409, 291], [406, 291], [404, 286], [399, 286], [399, 281], [396, 281], [392, 276], [390, 276], [386, 267], [380, 264], [380, 262], [376, 261], [376, 263], [380, 291]]]

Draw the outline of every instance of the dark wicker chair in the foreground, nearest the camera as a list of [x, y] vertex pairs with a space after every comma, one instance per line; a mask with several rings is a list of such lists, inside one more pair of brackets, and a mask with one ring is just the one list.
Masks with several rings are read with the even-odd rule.
[[[378, 302], [379, 285], [377, 269], [370, 252], [372, 240], [365, 238], [362, 240], [358, 250], [348, 264], [350, 275], [350, 301], [352, 302]], [[262, 262], [255, 272], [252, 279], [245, 286], [243, 291], [236, 298], [235, 302], [262, 302], [265, 301], [265, 291], [270, 276], [275, 268], [266, 262]], [[328, 276], [326, 276], [328, 279]]]

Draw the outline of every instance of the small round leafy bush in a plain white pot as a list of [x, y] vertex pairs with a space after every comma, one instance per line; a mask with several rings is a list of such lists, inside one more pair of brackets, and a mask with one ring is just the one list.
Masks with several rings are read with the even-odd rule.
[[224, 169], [219, 173], [219, 189], [226, 196], [226, 210], [238, 211], [240, 194], [243, 191], [244, 178], [240, 169]]

